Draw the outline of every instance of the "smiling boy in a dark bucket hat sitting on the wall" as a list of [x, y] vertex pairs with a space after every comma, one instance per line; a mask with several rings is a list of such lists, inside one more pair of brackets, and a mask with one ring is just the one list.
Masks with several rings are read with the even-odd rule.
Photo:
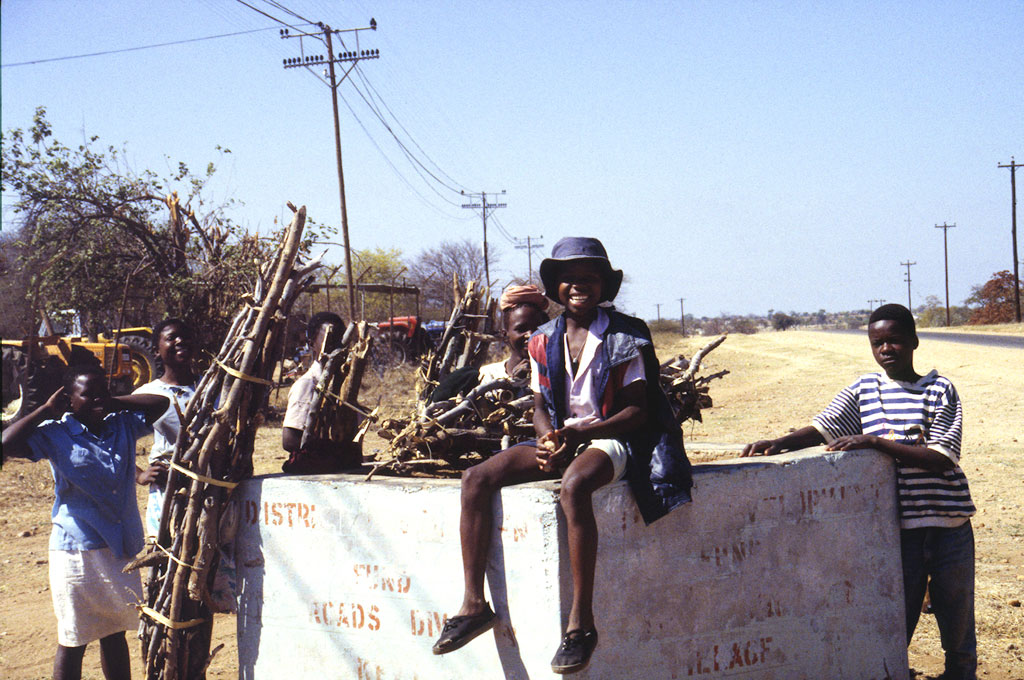
[[614, 299], [623, 282], [604, 246], [592, 238], [562, 239], [541, 263], [541, 279], [547, 297], [565, 311], [529, 340], [538, 439], [463, 474], [463, 603], [445, 623], [433, 651], [459, 649], [496, 624], [483, 597], [495, 494], [509, 484], [560, 477], [572, 605], [551, 668], [567, 674], [583, 670], [597, 645], [592, 604], [598, 537], [592, 495], [625, 478], [650, 523], [688, 503], [692, 482], [681, 431], [657, 380], [647, 326], [599, 306]]

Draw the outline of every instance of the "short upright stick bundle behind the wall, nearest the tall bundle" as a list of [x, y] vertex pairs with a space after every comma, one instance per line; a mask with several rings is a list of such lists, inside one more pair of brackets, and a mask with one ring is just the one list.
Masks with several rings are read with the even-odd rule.
[[[309, 405], [299, 449], [305, 450], [314, 441], [348, 444], [356, 438], [362, 414], [357, 397], [373, 343], [370, 326], [366, 322], [352, 323], [345, 329], [340, 346], [324, 354], [324, 372]], [[324, 338], [325, 347], [334, 344], [332, 338]], [[321, 347], [321, 353], [323, 350]]]

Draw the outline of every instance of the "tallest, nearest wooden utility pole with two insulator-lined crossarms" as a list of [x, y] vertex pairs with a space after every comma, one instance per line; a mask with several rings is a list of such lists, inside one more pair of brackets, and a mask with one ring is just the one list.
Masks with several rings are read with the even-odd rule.
[[[317, 80], [331, 88], [331, 104], [334, 109], [334, 147], [335, 156], [338, 162], [338, 197], [341, 203], [341, 236], [345, 248], [345, 277], [348, 283], [348, 320], [355, 321], [355, 286], [352, 285], [352, 249], [348, 241], [348, 209], [345, 205], [345, 173], [342, 169], [341, 164], [341, 125], [338, 122], [338, 86], [341, 85], [348, 74], [352, 73], [352, 69], [361, 59], [376, 59], [380, 57], [380, 50], [376, 49], [361, 49], [359, 46], [359, 32], [360, 31], [376, 31], [377, 20], [374, 18], [370, 19], [370, 26], [360, 29], [344, 29], [336, 31], [330, 26], [324, 24], [323, 22], [316, 25], [319, 28], [318, 33], [291, 33], [289, 29], [282, 29], [282, 38], [298, 38], [299, 39], [299, 53], [300, 56], [284, 59], [284, 66], [286, 69], [298, 69], [304, 68], [309, 73], [313, 74]], [[342, 47], [346, 51], [338, 52], [337, 56], [334, 53], [334, 44], [332, 42], [332, 36], [335, 34], [342, 33], [352, 33], [355, 38], [355, 50], [347, 51], [348, 47], [345, 45], [345, 41], [339, 38]], [[305, 41], [303, 38], [309, 38], [310, 40], [315, 40], [323, 43], [323, 46], [327, 48], [327, 56], [324, 54], [306, 53]], [[317, 50], [319, 46], [316, 46]], [[345, 72], [341, 74], [341, 78], [338, 78], [335, 72], [334, 65], [342, 63], [345, 65]], [[313, 69], [327, 65], [327, 69], [324, 71], [324, 76], [328, 80], [324, 80]]]

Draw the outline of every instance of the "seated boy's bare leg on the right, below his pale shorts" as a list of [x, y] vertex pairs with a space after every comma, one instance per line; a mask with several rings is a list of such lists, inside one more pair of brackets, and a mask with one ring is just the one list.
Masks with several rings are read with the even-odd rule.
[[603, 451], [580, 454], [562, 476], [560, 503], [568, 529], [572, 569], [572, 608], [566, 632], [594, 628], [594, 570], [597, 566], [597, 520], [594, 492], [611, 481], [611, 459]]

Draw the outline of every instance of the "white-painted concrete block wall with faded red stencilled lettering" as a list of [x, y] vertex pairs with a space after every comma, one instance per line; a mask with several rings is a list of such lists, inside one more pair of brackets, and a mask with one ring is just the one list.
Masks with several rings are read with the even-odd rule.
[[[694, 468], [645, 527], [595, 497], [601, 641], [580, 678], [907, 677], [892, 465], [872, 452]], [[501, 623], [434, 656], [462, 598], [459, 484], [356, 476], [239, 488], [243, 678], [549, 678], [570, 600], [552, 482], [505, 490], [488, 564]]]

